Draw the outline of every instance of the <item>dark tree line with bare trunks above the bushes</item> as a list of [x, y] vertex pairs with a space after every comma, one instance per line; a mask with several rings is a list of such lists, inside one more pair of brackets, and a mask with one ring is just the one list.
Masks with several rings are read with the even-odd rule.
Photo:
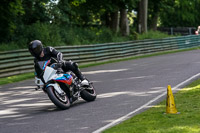
[[[28, 42], [42, 24], [61, 30], [103, 26], [122, 36], [129, 36], [130, 30], [156, 30], [158, 25], [197, 27], [199, 7], [200, 0], [1, 0], [0, 43], [22, 38]], [[40, 26], [34, 29], [36, 23]], [[52, 27], [48, 34], [60, 34], [56, 30]]]

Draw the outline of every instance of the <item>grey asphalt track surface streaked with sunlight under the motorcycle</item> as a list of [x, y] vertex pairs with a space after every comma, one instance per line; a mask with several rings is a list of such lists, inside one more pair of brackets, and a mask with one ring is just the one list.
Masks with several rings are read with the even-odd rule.
[[[168, 85], [174, 87], [199, 71], [199, 50], [84, 68], [82, 72], [94, 82], [98, 97], [94, 102], [80, 100], [64, 111], [41, 90], [34, 90], [34, 80], [3, 85], [0, 133], [99, 132], [166, 92]], [[165, 98], [158, 98], [132, 116]]]

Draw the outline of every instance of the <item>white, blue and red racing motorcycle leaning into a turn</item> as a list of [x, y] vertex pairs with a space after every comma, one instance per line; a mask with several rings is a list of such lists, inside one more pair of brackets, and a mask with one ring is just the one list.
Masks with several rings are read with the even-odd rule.
[[36, 72], [41, 76], [35, 77], [36, 90], [42, 88], [58, 108], [68, 109], [80, 97], [87, 102], [96, 99], [92, 82], [88, 80], [89, 85], [81, 85], [78, 77], [71, 71], [63, 72], [55, 59], [38, 61], [37, 66]]

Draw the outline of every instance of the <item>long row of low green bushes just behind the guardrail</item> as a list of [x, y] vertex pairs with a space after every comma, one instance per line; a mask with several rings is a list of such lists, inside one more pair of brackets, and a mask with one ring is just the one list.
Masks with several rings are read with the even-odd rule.
[[27, 44], [36, 39], [41, 40], [46, 46], [63, 46], [165, 37], [169, 37], [169, 35], [158, 31], [149, 31], [148, 33], [140, 35], [132, 29], [130, 36], [123, 37], [120, 33], [113, 33], [106, 27], [58, 26], [55, 24], [36, 22], [32, 25], [18, 26], [11, 40], [0, 44], [0, 51], [27, 48]]

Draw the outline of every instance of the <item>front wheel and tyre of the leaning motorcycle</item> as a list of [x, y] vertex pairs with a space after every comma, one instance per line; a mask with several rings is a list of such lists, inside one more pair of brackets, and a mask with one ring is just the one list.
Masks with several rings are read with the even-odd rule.
[[70, 101], [67, 95], [60, 96], [53, 86], [49, 86], [46, 89], [49, 99], [60, 109], [68, 109], [70, 107]]

